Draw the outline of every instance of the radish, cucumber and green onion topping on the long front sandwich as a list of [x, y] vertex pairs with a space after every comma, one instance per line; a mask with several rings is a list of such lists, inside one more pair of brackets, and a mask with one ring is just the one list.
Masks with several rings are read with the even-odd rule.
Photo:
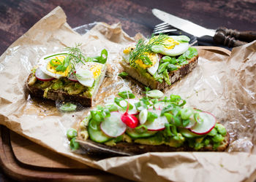
[[[147, 89], [146, 97], [140, 100], [124, 99], [125, 94], [121, 92], [118, 95], [123, 98], [115, 98], [115, 103], [97, 106], [89, 117], [89, 138], [109, 144], [127, 140], [140, 142], [140, 139], [143, 139], [143, 143], [149, 140], [148, 143], [170, 146], [181, 146], [187, 142], [196, 150], [208, 145], [216, 149], [221, 145], [227, 131], [222, 124], [216, 124], [212, 114], [184, 107], [186, 100], [179, 95], [170, 95], [170, 98], [162, 100], [149, 98], [149, 91]], [[132, 109], [138, 114], [129, 114]], [[69, 135], [72, 135], [71, 131]]]

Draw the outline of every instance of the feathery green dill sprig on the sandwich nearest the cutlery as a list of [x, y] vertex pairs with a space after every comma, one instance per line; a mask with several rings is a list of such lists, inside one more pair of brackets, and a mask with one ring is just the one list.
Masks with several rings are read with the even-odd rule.
[[134, 50], [129, 52], [129, 63], [131, 66], [135, 66], [135, 60], [143, 60], [143, 63], [151, 65], [151, 60], [146, 55], [146, 52], [152, 53], [152, 47], [154, 45], [164, 44], [168, 36], [165, 34], [159, 34], [159, 36], [151, 36], [148, 41], [139, 39]]

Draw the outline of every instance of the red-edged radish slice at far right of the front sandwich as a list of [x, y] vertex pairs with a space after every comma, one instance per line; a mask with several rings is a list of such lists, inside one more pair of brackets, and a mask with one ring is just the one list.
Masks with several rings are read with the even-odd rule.
[[207, 112], [200, 112], [199, 116], [203, 119], [203, 122], [197, 122], [195, 126], [191, 127], [189, 130], [198, 135], [205, 135], [211, 132], [216, 124], [215, 116]]

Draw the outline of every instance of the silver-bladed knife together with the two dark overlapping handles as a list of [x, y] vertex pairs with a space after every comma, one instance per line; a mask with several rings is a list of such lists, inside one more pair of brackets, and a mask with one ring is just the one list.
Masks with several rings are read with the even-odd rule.
[[[152, 9], [153, 14], [160, 20], [172, 25], [181, 31], [192, 34], [193, 36], [212, 36], [217, 44], [224, 44], [228, 47], [237, 47], [242, 44], [246, 44], [249, 41], [256, 40], [255, 31], [239, 32], [227, 28], [217, 28], [217, 30], [204, 28], [200, 25], [184, 20], [181, 17], [170, 15], [167, 12], [163, 12], [159, 9]], [[238, 40], [239, 39], [239, 40]], [[247, 41], [247, 42], [246, 42]]]

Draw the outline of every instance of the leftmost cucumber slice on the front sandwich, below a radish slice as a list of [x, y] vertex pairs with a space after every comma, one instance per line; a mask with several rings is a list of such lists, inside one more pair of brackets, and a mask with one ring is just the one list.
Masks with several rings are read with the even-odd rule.
[[91, 123], [89, 122], [88, 126], [88, 133], [91, 141], [95, 141], [97, 143], [105, 143], [106, 141], [110, 141], [112, 138], [109, 137], [108, 135], [105, 135], [102, 130], [94, 130], [91, 127]]

